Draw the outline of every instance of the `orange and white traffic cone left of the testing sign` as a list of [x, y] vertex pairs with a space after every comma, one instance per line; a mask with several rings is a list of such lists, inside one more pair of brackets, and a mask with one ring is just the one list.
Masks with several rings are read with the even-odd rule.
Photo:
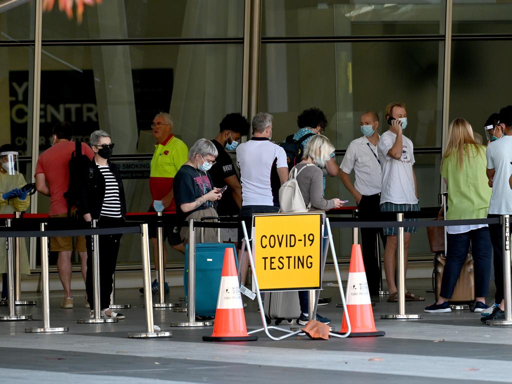
[[258, 336], [249, 335], [245, 325], [244, 306], [233, 249], [226, 248], [215, 312], [214, 333], [211, 336], [203, 336], [203, 341], [251, 342], [254, 340], [258, 340]]

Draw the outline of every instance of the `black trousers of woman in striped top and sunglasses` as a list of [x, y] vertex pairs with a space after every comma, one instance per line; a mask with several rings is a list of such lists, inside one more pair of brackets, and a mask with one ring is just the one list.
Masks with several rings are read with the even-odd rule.
[[[121, 225], [123, 219], [101, 216], [99, 227], [115, 227]], [[110, 306], [110, 295], [112, 293], [112, 275], [116, 270], [117, 254], [119, 253], [119, 242], [121, 234], [102, 234], [98, 236], [99, 250], [99, 289], [100, 309], [107, 309]], [[93, 288], [93, 252], [92, 236], [86, 236], [87, 243], [87, 277], [86, 292], [87, 301], [91, 309], [94, 309], [94, 288]]]

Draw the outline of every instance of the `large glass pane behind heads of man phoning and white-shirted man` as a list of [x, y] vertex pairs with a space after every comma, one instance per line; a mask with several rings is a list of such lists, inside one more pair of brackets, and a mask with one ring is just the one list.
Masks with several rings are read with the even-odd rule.
[[439, 147], [441, 47], [438, 41], [264, 44], [260, 110], [274, 115], [273, 137], [282, 141], [297, 129], [297, 115], [317, 106], [329, 121], [325, 135], [343, 149], [360, 136], [362, 113], [376, 111], [383, 132], [386, 105], [404, 102], [408, 137], [416, 147]]

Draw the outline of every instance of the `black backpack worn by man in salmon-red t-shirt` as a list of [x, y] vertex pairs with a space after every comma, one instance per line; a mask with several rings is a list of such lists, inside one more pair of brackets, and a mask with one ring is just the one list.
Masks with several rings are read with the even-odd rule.
[[80, 188], [86, 182], [83, 180], [86, 177], [84, 170], [89, 167], [91, 160], [82, 154], [81, 141], [75, 142], [75, 151], [71, 154], [69, 160], [69, 187], [68, 191], [64, 193], [64, 198], [68, 203], [68, 216], [75, 216], [80, 200]]

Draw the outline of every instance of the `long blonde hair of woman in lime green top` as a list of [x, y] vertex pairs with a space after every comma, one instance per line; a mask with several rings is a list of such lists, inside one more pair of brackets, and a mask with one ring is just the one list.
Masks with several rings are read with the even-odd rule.
[[471, 127], [471, 124], [465, 119], [458, 117], [450, 123], [450, 127], [448, 129], [448, 141], [446, 142], [444, 155], [441, 159], [441, 167], [444, 160], [451, 155], [457, 156], [459, 168], [462, 167], [464, 153], [467, 160], [470, 161], [470, 151], [466, 150], [466, 145], [473, 145], [477, 153], [480, 151], [483, 152], [483, 146], [478, 144], [473, 137], [473, 128]]

